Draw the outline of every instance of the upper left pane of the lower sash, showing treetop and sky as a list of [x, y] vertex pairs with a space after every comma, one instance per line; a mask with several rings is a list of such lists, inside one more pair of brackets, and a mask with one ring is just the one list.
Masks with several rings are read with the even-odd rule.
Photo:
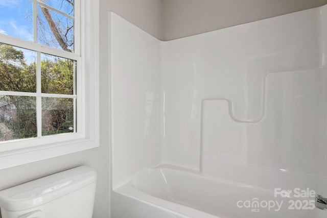
[[36, 52], [0, 43], [0, 90], [36, 92]]

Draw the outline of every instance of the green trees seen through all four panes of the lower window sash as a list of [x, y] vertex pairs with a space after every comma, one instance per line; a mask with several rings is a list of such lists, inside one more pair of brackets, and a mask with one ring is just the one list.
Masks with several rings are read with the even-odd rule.
[[[46, 57], [41, 61], [42, 93], [73, 94], [75, 62]], [[22, 51], [0, 43], [0, 90], [36, 92], [36, 68], [36, 63], [26, 63]], [[72, 99], [42, 98], [43, 135], [72, 132], [73, 108]], [[13, 139], [37, 136], [36, 98], [0, 95], [1, 122], [10, 129]]]

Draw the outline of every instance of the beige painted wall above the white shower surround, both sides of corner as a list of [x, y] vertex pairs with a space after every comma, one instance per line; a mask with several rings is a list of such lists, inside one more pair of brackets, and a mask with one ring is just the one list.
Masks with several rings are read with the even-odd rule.
[[324, 4], [327, 0], [106, 0], [102, 10], [168, 41]]

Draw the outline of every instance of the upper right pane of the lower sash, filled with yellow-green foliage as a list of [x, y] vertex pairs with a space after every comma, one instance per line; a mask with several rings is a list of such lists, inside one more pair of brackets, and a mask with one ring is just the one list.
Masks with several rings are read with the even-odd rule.
[[42, 93], [74, 94], [75, 61], [41, 54]]

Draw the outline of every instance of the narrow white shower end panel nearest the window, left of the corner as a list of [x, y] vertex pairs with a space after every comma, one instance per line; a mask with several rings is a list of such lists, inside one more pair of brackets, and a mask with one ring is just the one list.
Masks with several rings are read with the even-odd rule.
[[112, 187], [160, 163], [160, 41], [110, 13]]

